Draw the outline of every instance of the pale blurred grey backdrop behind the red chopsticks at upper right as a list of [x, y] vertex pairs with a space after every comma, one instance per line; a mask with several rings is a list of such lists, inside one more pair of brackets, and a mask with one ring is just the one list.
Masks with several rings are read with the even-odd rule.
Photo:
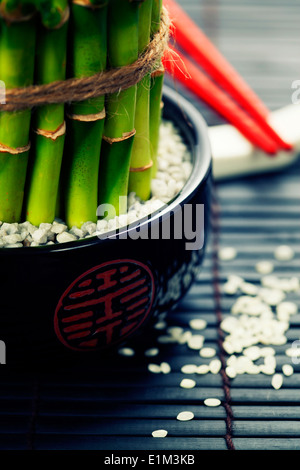
[[[298, 0], [178, 0], [186, 13], [242, 75], [270, 110], [291, 104], [300, 79]], [[209, 125], [224, 122], [170, 78], [202, 112]]]

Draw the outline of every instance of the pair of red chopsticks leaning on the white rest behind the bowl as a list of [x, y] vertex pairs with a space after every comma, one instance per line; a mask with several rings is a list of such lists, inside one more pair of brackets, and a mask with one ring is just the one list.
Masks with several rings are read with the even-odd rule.
[[224, 91], [174, 46], [170, 46], [163, 58], [166, 71], [235, 126], [254, 146], [271, 155], [279, 150], [291, 150], [292, 145], [268, 123], [269, 110], [264, 103], [207, 36], [174, 0], [163, 1], [173, 24], [171, 35], [177, 44]]

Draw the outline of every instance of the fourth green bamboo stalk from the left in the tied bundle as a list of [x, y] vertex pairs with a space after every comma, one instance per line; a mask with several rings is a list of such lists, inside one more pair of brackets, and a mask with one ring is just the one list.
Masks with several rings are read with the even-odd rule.
[[[123, 67], [138, 58], [139, 2], [111, 0], [108, 15], [108, 57], [112, 68]], [[99, 203], [114, 210], [107, 217], [124, 213], [132, 146], [136, 85], [107, 97], [107, 117], [100, 160]], [[120, 196], [122, 199], [120, 199]]]

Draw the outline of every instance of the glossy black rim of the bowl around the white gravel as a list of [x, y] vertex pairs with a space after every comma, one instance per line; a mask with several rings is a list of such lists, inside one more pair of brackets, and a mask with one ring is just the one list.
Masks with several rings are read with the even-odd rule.
[[[175, 91], [171, 87], [164, 85], [163, 87], [163, 100], [177, 105], [179, 112], [181, 113], [182, 119], [185, 119], [186, 125], [191, 128], [194, 134], [193, 142], [193, 169], [191, 175], [186, 181], [182, 190], [163, 208], [155, 211], [149, 217], [145, 217], [135, 221], [125, 227], [121, 227], [118, 230], [105, 233], [105, 237], [99, 238], [97, 235], [82, 240], [74, 240], [66, 243], [57, 243], [54, 245], [40, 245], [40, 246], [29, 246], [19, 247], [16, 249], [12, 248], [0, 248], [1, 253], [5, 255], [41, 255], [52, 252], [70, 251], [75, 249], [83, 249], [92, 245], [99, 245], [108, 240], [117, 239], [121, 234], [129, 233], [131, 230], [135, 230], [138, 225], [140, 228], [153, 223], [158, 219], [163, 220], [168, 217], [169, 214], [175, 213], [184, 205], [189, 199], [193, 197], [195, 192], [198, 190], [209, 177], [212, 167], [212, 155], [211, 146], [209, 141], [209, 135], [207, 131], [207, 124], [202, 117], [200, 111], [196, 107], [184, 98], [178, 91]], [[122, 238], [122, 237], [121, 237]]]

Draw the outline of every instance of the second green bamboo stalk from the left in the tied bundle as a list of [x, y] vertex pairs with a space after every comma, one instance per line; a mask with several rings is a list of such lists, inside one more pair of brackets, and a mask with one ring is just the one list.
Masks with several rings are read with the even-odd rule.
[[[36, 81], [38, 84], [64, 80], [66, 76], [67, 0], [42, 5], [38, 30]], [[38, 108], [35, 119], [34, 151], [26, 185], [26, 219], [34, 225], [53, 222], [62, 163], [65, 121], [64, 105]]]

